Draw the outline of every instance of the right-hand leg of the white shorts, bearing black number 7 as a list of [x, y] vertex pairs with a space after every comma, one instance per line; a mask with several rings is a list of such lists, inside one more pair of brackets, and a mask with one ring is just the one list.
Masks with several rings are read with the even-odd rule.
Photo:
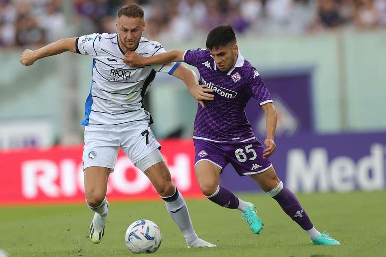
[[147, 121], [140, 121], [120, 129], [123, 152], [135, 164], [156, 149], [161, 149]]

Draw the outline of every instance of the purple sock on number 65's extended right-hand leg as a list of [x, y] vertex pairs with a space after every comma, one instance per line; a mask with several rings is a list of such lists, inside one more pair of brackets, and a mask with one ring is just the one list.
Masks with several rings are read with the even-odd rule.
[[279, 203], [281, 209], [283, 209], [283, 211], [291, 217], [294, 222], [299, 224], [302, 229], [310, 230], [314, 227], [310, 218], [308, 218], [307, 213], [300, 205], [298, 199], [289, 189], [283, 187], [283, 189], [272, 198]]

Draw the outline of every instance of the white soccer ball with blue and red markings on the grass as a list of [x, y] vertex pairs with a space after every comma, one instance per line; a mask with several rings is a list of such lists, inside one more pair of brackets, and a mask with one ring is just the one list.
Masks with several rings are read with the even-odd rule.
[[125, 241], [127, 248], [134, 254], [152, 254], [161, 246], [161, 231], [152, 221], [135, 221], [127, 228]]

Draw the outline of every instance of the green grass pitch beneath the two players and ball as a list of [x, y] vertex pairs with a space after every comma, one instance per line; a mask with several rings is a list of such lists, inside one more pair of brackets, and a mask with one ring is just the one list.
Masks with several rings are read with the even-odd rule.
[[125, 245], [125, 231], [133, 221], [148, 219], [162, 232], [162, 245], [154, 256], [386, 256], [386, 191], [298, 195], [315, 227], [341, 242], [337, 247], [311, 245], [273, 199], [262, 194], [239, 196], [256, 205], [265, 224], [260, 235], [250, 232], [238, 210], [206, 199], [188, 201], [196, 233], [216, 244], [214, 249], [188, 249], [162, 201], [112, 202], [99, 245], [88, 239], [93, 214], [85, 205], [0, 208], [0, 249], [10, 257], [133, 256]]

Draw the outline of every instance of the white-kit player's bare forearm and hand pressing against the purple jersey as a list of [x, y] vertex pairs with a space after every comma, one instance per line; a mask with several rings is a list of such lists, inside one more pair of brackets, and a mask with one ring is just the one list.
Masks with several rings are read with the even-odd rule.
[[192, 69], [181, 64], [172, 75], [184, 81], [184, 83], [188, 86], [189, 93], [202, 106], [202, 108], [205, 108], [203, 100], [211, 101], [214, 99], [214, 96], [209, 94], [210, 92], [213, 92], [213, 89], [209, 89], [205, 85], [198, 85], [197, 74], [195, 74]]

